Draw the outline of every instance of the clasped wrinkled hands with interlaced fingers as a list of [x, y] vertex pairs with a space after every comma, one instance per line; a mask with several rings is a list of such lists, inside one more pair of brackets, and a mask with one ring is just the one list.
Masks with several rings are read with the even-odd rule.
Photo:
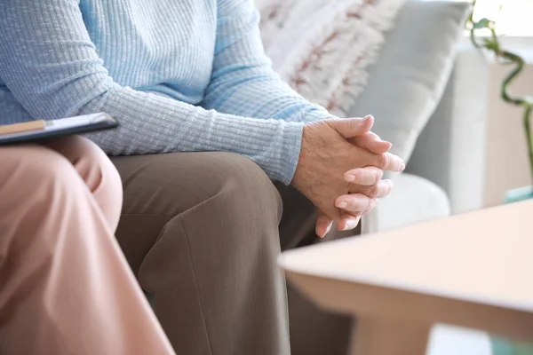
[[385, 170], [402, 171], [405, 164], [390, 154], [389, 142], [370, 129], [372, 116], [326, 120], [304, 126], [298, 167], [292, 180], [320, 210], [316, 233], [323, 237], [333, 221], [339, 230], [353, 229], [377, 199], [391, 192], [382, 180]]

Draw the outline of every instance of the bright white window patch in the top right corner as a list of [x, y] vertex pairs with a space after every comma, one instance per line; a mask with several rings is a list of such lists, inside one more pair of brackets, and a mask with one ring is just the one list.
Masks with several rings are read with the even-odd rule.
[[533, 36], [533, 0], [477, 0], [474, 20], [496, 21], [498, 35]]

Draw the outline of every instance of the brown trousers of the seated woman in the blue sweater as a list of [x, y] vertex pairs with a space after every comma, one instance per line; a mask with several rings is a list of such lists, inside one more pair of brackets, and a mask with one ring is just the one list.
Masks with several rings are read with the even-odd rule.
[[282, 249], [314, 242], [305, 197], [237, 154], [113, 162], [124, 188], [116, 237], [178, 354], [346, 353], [351, 319], [287, 290], [276, 264]]

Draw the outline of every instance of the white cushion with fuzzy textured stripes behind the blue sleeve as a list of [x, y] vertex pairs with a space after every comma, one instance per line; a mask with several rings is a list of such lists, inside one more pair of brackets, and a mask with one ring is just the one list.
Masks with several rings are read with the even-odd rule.
[[[256, 0], [274, 70], [306, 99], [346, 117], [406, 0]], [[323, 118], [323, 114], [321, 114]]]

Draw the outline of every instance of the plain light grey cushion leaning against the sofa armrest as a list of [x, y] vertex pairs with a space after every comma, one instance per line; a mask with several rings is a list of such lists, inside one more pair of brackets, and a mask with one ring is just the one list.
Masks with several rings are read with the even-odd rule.
[[396, 17], [350, 116], [373, 114], [374, 131], [409, 160], [439, 103], [463, 34], [468, 3], [411, 0]]

